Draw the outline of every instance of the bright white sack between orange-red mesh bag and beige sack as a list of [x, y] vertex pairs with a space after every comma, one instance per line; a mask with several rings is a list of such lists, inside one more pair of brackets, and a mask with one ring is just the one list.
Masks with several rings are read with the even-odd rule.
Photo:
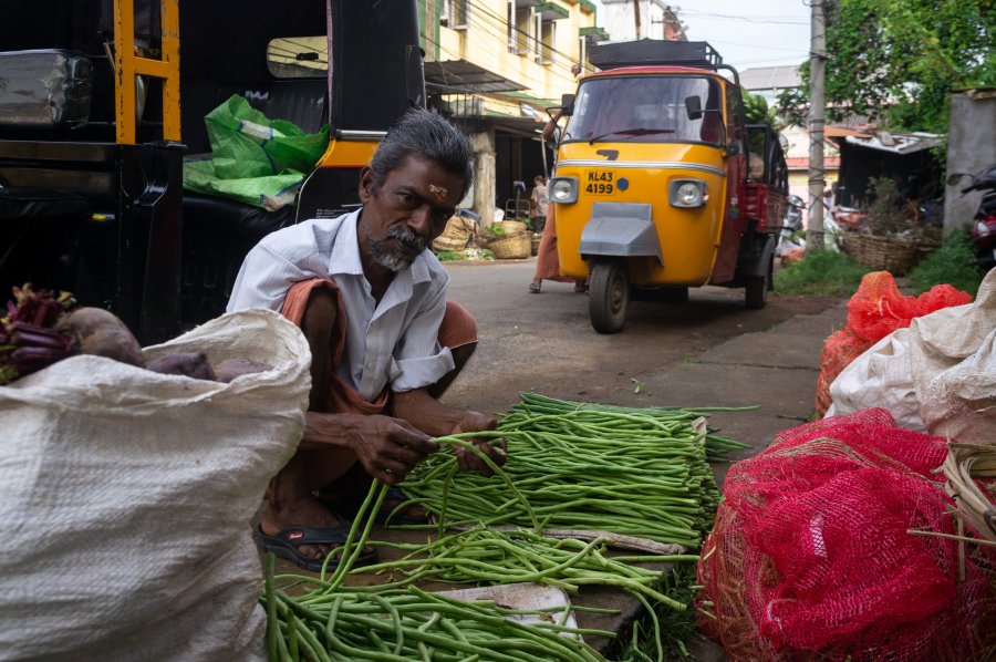
[[913, 386], [910, 330], [896, 329], [851, 361], [830, 384], [830, 396], [827, 416], [884, 407], [900, 427], [925, 432]]

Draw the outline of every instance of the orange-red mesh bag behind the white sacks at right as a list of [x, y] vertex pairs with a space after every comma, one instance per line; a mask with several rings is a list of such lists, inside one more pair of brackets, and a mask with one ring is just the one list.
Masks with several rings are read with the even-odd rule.
[[920, 297], [904, 297], [889, 271], [865, 273], [848, 301], [848, 325], [823, 343], [817, 379], [817, 414], [822, 416], [830, 407], [830, 384], [837, 375], [870, 346], [896, 329], [909, 327], [913, 318], [971, 302], [971, 294], [946, 283], [934, 286]]

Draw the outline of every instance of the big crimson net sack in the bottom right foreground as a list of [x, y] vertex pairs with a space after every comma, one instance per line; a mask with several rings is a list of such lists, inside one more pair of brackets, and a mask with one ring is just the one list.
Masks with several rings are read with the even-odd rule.
[[698, 566], [704, 630], [732, 660], [990, 659], [992, 552], [907, 532], [955, 532], [946, 453], [864, 410], [734, 465]]

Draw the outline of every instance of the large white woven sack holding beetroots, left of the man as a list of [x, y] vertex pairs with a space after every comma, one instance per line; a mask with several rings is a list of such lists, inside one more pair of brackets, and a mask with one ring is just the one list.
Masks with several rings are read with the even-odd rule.
[[162, 345], [230, 384], [74, 356], [0, 387], [0, 659], [264, 658], [249, 520], [293, 454], [311, 361], [267, 310]]

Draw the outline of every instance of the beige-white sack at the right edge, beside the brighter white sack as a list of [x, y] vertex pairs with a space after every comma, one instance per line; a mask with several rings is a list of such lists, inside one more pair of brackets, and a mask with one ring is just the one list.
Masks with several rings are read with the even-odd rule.
[[910, 324], [920, 414], [931, 434], [996, 443], [996, 269], [975, 301]]

